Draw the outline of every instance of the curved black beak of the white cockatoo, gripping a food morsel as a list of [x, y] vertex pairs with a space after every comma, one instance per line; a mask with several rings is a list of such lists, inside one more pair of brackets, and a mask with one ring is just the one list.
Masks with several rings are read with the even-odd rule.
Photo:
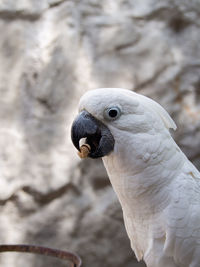
[[93, 117], [87, 111], [82, 111], [74, 120], [71, 128], [71, 138], [74, 146], [80, 151], [79, 141], [86, 138], [90, 145], [90, 158], [108, 155], [114, 148], [114, 138], [108, 127]]

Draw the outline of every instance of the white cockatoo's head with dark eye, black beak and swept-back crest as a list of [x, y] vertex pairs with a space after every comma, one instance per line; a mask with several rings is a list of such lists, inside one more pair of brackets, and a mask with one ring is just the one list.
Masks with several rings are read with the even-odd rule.
[[128, 139], [169, 128], [176, 129], [174, 121], [152, 99], [126, 89], [100, 88], [81, 97], [71, 138], [79, 151], [79, 141], [86, 138], [91, 147], [88, 156], [99, 158], [113, 153], [120, 144], [128, 144]]

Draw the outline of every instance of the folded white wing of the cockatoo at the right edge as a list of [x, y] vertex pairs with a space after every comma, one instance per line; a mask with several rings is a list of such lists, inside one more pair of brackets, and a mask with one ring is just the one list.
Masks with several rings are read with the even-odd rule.
[[183, 267], [200, 266], [200, 173], [185, 158], [166, 211], [164, 251]]

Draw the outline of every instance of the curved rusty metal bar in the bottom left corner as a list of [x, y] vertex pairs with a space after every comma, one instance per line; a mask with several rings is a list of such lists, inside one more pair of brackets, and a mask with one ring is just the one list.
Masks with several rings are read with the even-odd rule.
[[35, 245], [0, 245], [0, 253], [2, 252], [26, 252], [55, 257], [61, 260], [71, 261], [71, 267], [80, 267], [82, 264], [81, 258], [75, 253]]

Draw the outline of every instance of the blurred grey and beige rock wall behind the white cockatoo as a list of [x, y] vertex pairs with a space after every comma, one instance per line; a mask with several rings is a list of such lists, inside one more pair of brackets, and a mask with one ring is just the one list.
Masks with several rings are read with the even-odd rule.
[[[101, 161], [80, 161], [70, 125], [85, 91], [135, 90], [168, 110], [200, 168], [199, 0], [1, 0], [0, 34], [0, 243], [144, 266]], [[19, 254], [0, 265], [65, 266]]]

